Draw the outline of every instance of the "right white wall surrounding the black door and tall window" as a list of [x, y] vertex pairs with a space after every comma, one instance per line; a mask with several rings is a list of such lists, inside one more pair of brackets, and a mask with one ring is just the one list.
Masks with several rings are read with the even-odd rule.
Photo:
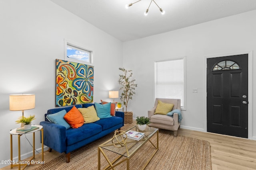
[[[206, 131], [206, 57], [253, 51], [256, 55], [256, 10], [124, 43], [124, 67], [134, 72], [138, 88], [130, 102], [134, 115], [154, 106], [154, 61], [186, 56], [186, 110], [181, 127]], [[253, 59], [253, 66], [256, 60]], [[256, 75], [253, 69], [252, 75]], [[255, 76], [254, 76], [255, 77]], [[250, 80], [255, 85], [255, 79]], [[256, 97], [253, 87], [250, 99]], [[198, 88], [198, 93], [192, 93]], [[252, 100], [249, 106], [252, 106]], [[138, 107], [139, 106], [139, 107]], [[256, 140], [256, 106], [249, 119], [249, 137]]]

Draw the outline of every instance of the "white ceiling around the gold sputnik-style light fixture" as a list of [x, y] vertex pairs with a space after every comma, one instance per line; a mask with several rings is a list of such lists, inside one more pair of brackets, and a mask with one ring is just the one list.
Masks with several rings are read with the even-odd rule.
[[120, 41], [130, 41], [256, 10], [256, 0], [51, 0]]

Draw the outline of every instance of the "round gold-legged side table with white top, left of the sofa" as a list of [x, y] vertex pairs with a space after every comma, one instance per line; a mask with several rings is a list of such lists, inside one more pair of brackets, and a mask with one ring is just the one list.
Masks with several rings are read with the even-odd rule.
[[[33, 157], [29, 161], [26, 161], [26, 162], [31, 162], [31, 160], [35, 158], [35, 132], [37, 132], [37, 131], [42, 132], [41, 133], [41, 138], [42, 138], [42, 162], [44, 162], [44, 129], [41, 125], [33, 125], [33, 126], [37, 126], [37, 127], [39, 127], [39, 129], [36, 129], [34, 131], [26, 133], [26, 134], [33, 133]], [[11, 169], [14, 166], [18, 166], [18, 168], [20, 170], [21, 166], [24, 166], [23, 169], [25, 169], [28, 164], [20, 164], [22, 162], [20, 160], [20, 136], [24, 135], [24, 133], [18, 133], [18, 132], [16, 132], [16, 129], [18, 129], [18, 128], [12, 129], [10, 131], [10, 143], [11, 143], [11, 149], [10, 150], [11, 150], [11, 162], [13, 162], [13, 160], [12, 160], [12, 135], [18, 135], [18, 164], [12, 164], [11, 163]]]

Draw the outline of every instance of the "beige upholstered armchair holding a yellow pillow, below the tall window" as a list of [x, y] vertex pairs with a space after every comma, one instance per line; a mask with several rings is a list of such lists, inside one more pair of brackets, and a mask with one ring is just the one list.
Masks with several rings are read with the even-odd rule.
[[172, 110], [180, 109], [180, 99], [156, 98], [154, 107], [148, 111], [148, 117], [150, 118], [151, 121], [151, 123], [148, 126], [174, 131], [174, 137], [177, 137], [177, 131], [180, 127], [180, 123], [178, 122], [178, 113], [174, 113], [173, 117], [160, 114], [155, 115], [154, 113], [156, 111], [158, 100], [164, 103], [174, 104]]

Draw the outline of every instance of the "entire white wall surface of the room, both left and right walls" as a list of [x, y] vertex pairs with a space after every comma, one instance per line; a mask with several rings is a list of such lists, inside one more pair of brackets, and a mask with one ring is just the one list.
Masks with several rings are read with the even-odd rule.
[[[25, 111], [25, 115], [36, 115], [33, 124], [43, 121], [47, 109], [55, 107], [55, 59], [64, 59], [64, 39], [94, 51], [94, 102], [110, 101], [108, 90], [118, 90], [118, 67], [133, 70], [138, 88], [128, 111], [133, 111], [134, 117], [147, 115], [153, 107], [154, 61], [186, 56], [187, 107], [182, 111], [182, 127], [206, 131], [205, 58], [255, 51], [255, 20], [256, 11], [252, 11], [122, 43], [48, 0], [0, 1], [0, 160], [10, 159], [8, 131], [19, 126], [15, 120], [21, 115], [21, 111], [9, 110], [10, 94], [36, 94], [36, 108]], [[198, 88], [198, 93], [192, 93], [192, 88]], [[253, 106], [254, 140], [255, 109]], [[27, 135], [30, 141], [31, 136]], [[17, 137], [13, 138], [17, 158]], [[40, 148], [39, 139], [37, 133], [36, 149]], [[28, 157], [32, 147], [24, 136], [21, 143], [21, 153]]]

